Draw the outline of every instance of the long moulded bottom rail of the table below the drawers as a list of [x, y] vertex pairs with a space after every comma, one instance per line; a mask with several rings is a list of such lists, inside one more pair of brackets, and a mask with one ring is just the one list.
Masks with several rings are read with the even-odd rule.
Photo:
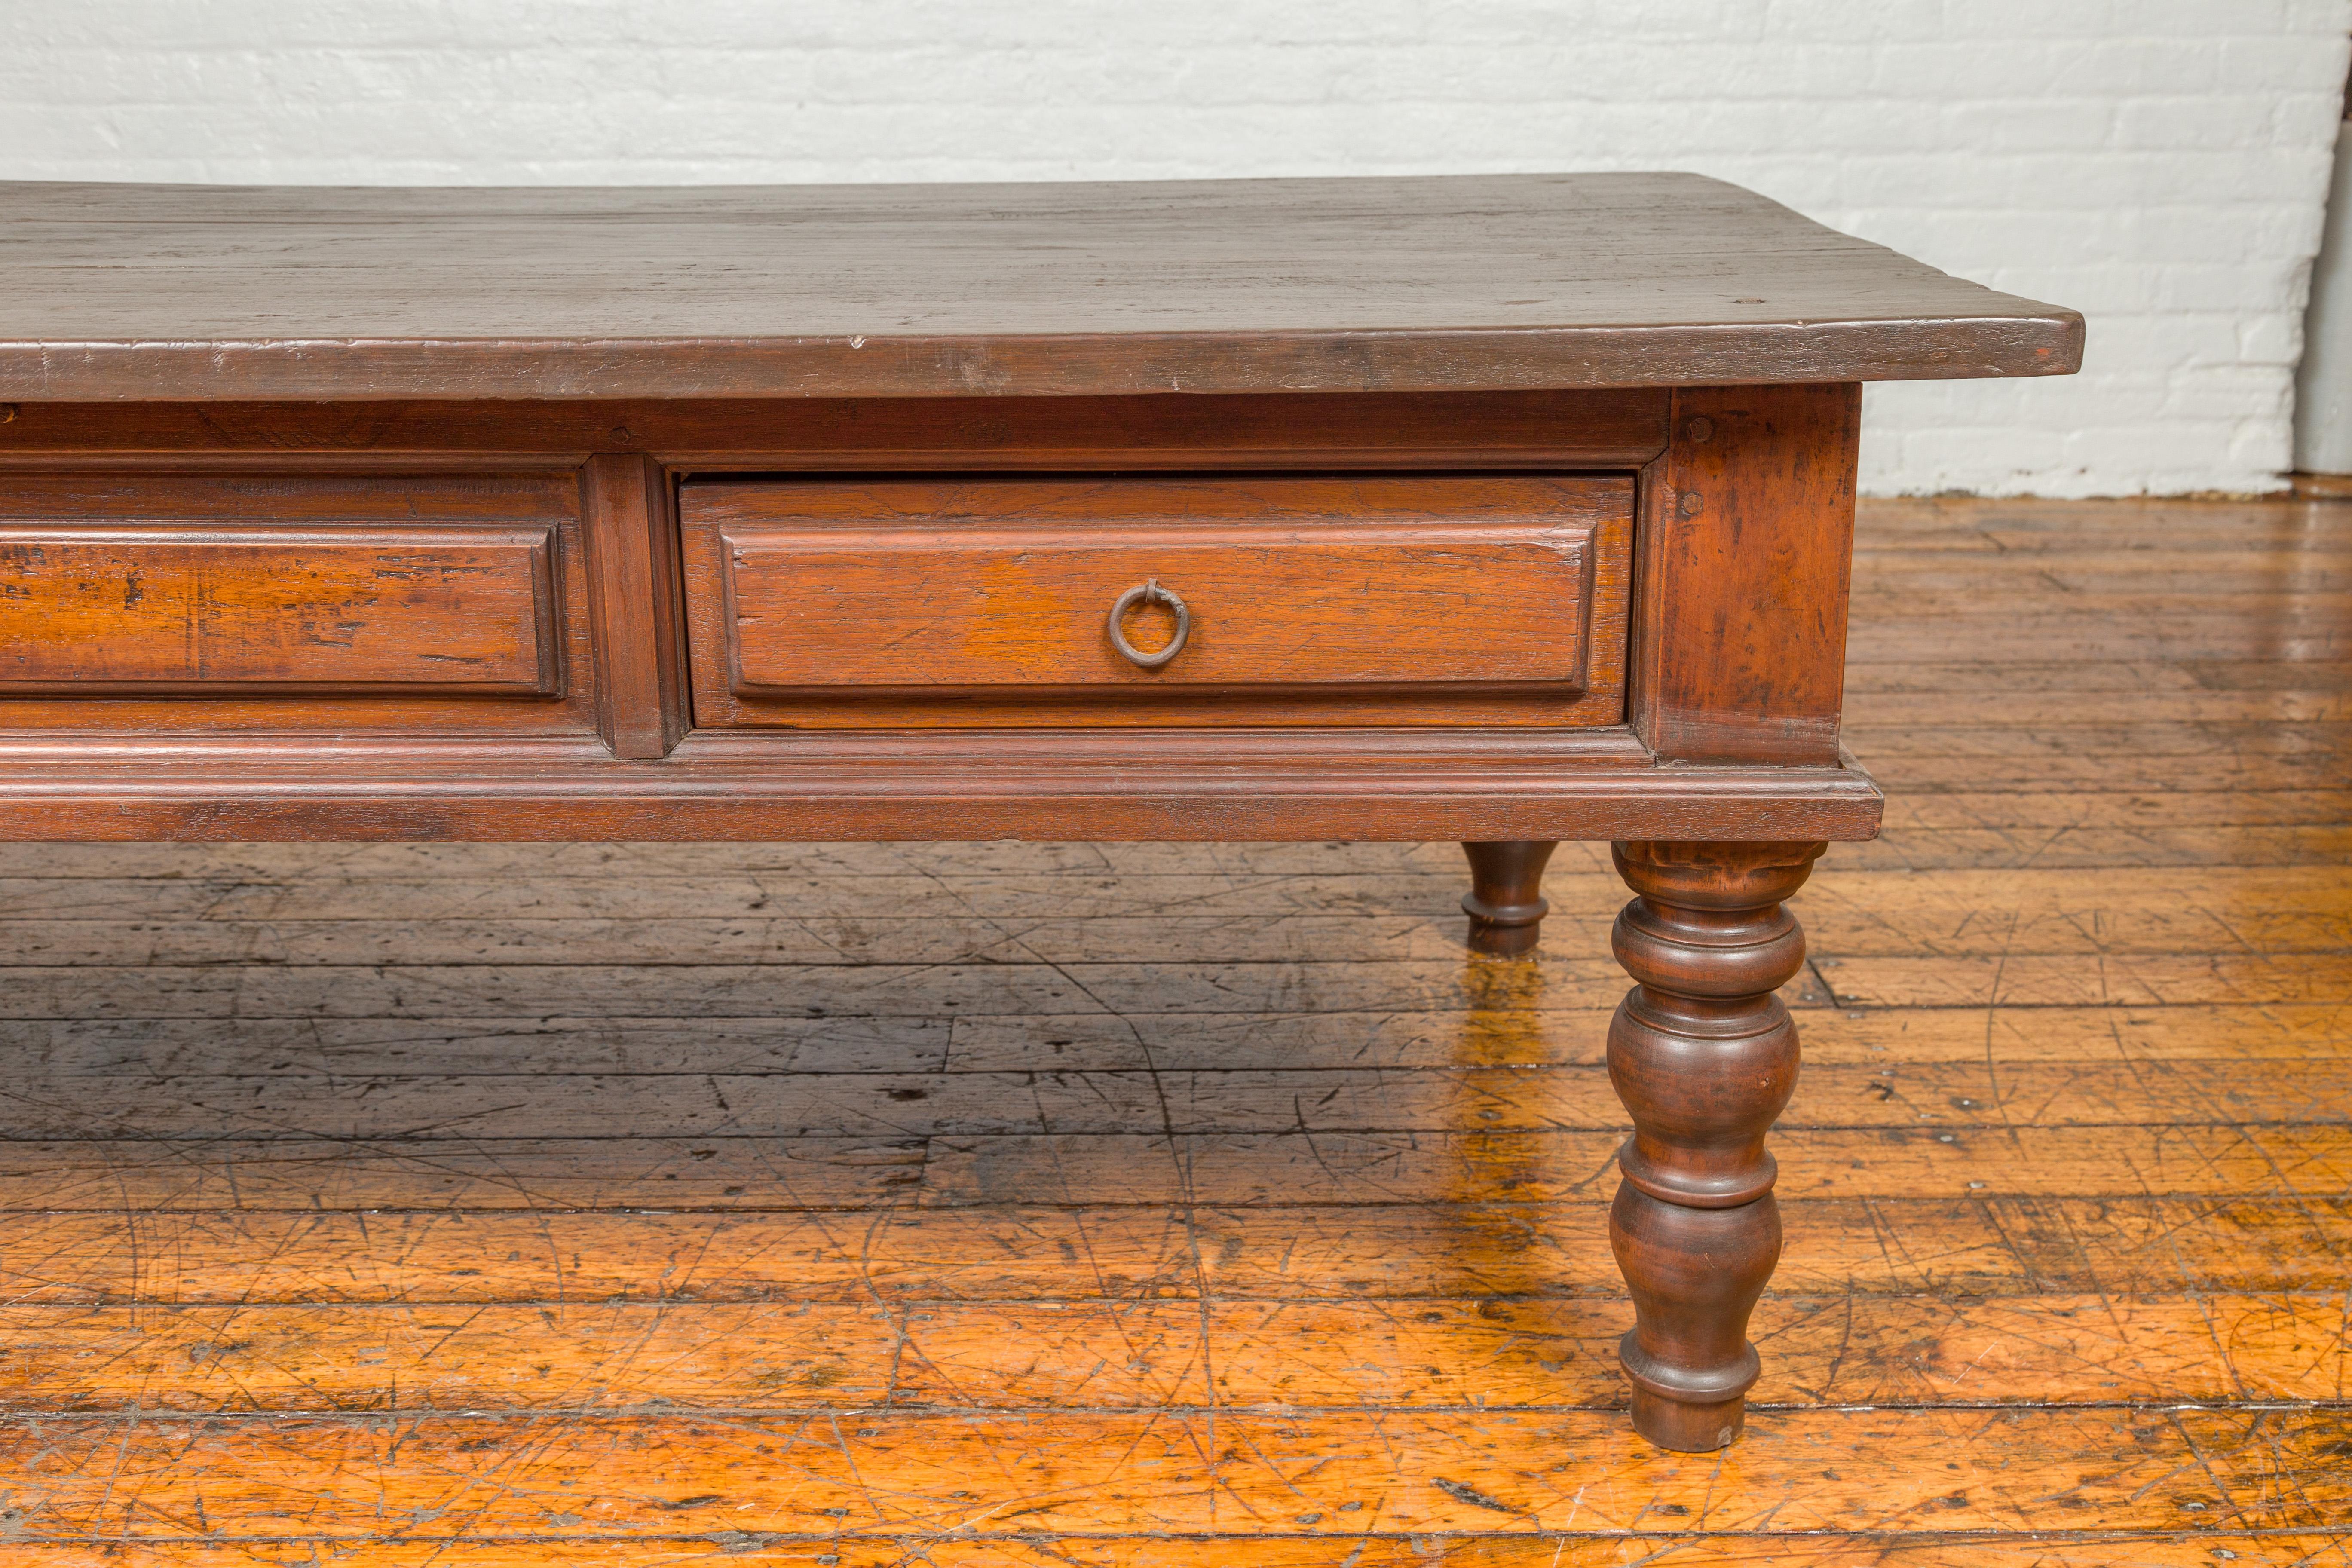
[[[125, 766], [136, 762], [136, 766]], [[0, 738], [21, 839], [1867, 839], [1844, 769], [1653, 766], [1623, 729], [699, 731], [597, 741]]]

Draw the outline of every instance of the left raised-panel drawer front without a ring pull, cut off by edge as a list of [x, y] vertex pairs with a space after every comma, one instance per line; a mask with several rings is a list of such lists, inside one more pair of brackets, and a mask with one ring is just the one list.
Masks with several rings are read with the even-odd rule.
[[569, 475], [9, 475], [0, 719], [543, 724], [576, 496]]

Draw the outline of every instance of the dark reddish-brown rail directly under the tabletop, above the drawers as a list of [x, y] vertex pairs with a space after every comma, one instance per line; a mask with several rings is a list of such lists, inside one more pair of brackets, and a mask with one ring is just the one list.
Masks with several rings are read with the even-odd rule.
[[1630, 470], [1665, 449], [1663, 388], [1188, 397], [595, 402], [28, 402], [0, 468], [61, 463], [579, 465], [673, 473], [1070, 468]]

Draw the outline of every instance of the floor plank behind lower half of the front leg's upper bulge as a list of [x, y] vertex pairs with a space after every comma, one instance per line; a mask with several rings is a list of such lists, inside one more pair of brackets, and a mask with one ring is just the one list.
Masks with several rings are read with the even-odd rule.
[[[278, 1131], [400, 1138], [463, 1128], [482, 1138], [727, 1131], [771, 1138], [1002, 1138], [1047, 1133], [1444, 1133], [1616, 1131], [1623, 1107], [1602, 1065], [1080, 1070], [1080, 1072], [169, 1072], [155, 1093], [89, 1107], [96, 1074], [26, 1072], [0, 1103], [7, 1138], [200, 1138]], [[125, 1084], [120, 1074], [111, 1084]], [[1804, 1074], [1788, 1128], [2352, 1124], [2352, 1060], [2298, 1072], [2241, 1063], [1825, 1063]]]

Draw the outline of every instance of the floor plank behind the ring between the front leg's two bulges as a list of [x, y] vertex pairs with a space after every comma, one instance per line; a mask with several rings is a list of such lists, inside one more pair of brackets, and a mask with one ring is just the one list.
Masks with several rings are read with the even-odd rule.
[[[795, 1211], [1557, 1201], [1618, 1131], [1033, 1138], [59, 1138], [0, 1143], [0, 1211]], [[2343, 1126], [1790, 1128], [1780, 1201], [2352, 1197]], [[1432, 1194], [1444, 1194], [1432, 1199]]]

